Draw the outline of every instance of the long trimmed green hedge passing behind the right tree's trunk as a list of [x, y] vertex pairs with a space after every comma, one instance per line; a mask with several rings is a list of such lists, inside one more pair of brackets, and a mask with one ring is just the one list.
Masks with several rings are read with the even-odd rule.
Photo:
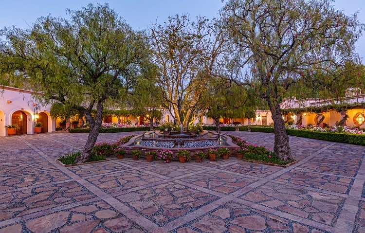
[[[253, 127], [251, 132], [274, 133], [274, 128]], [[365, 145], [365, 135], [348, 133], [328, 133], [310, 130], [287, 129], [287, 134], [302, 138], [311, 138], [336, 143], [348, 143], [354, 145]]]

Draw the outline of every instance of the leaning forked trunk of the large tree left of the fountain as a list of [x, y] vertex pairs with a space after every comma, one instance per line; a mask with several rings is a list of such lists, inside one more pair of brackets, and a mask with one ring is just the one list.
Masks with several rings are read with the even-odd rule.
[[103, 102], [100, 101], [97, 103], [97, 112], [96, 119], [91, 116], [91, 113], [85, 114], [86, 118], [91, 120], [92, 126], [90, 124], [90, 133], [88, 137], [88, 141], [86, 142], [84, 148], [81, 151], [81, 154], [76, 157], [75, 163], [82, 163], [88, 161], [92, 148], [94, 147], [96, 140], [99, 136], [99, 129], [103, 119]]

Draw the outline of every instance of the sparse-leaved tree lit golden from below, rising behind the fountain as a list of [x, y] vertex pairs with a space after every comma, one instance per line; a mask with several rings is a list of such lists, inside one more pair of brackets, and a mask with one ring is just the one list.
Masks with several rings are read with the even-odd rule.
[[224, 28], [214, 20], [177, 15], [164, 25], [153, 25], [150, 38], [164, 107], [176, 124], [187, 128], [206, 109], [202, 95], [208, 80], [224, 66]]

